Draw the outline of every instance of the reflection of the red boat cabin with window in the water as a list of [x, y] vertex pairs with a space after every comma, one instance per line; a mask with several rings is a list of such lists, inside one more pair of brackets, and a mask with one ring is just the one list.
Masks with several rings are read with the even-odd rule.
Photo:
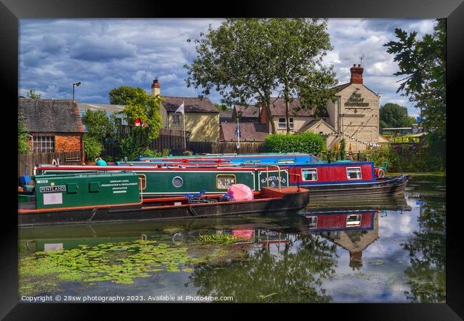
[[376, 210], [349, 210], [333, 212], [308, 212], [309, 230], [318, 232], [336, 230], [372, 230]]

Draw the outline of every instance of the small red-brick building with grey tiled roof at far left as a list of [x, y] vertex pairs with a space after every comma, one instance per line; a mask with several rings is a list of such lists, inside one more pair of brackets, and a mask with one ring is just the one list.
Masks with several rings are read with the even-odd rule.
[[76, 101], [21, 97], [18, 113], [31, 135], [32, 153], [79, 151], [84, 162], [84, 126]]

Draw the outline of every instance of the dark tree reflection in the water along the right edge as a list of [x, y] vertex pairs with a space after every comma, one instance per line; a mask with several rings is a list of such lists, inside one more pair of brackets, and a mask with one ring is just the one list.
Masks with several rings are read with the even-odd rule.
[[440, 302], [446, 298], [445, 205], [424, 208], [418, 220], [420, 231], [415, 232], [408, 243], [402, 244], [411, 257], [411, 266], [405, 270], [412, 291], [408, 300]]

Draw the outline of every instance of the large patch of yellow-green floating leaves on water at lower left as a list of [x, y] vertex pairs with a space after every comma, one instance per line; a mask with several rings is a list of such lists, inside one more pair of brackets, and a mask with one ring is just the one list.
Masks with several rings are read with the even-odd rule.
[[188, 255], [187, 248], [147, 240], [37, 252], [19, 260], [19, 292], [46, 292], [66, 281], [131, 284], [149, 272], [191, 272], [193, 264], [202, 262], [204, 258]]

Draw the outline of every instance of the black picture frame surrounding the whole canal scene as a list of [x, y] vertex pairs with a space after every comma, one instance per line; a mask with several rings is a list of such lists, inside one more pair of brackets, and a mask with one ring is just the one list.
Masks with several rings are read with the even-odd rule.
[[[463, 86], [463, 31], [464, 31], [464, 4], [462, 0], [390, 0], [390, 1], [363, 1], [363, 0], [330, 0], [330, 1], [233, 1], [221, 4], [218, 1], [198, 3], [196, 1], [146, 1], [146, 0], [1, 0], [0, 2], [0, 59], [1, 88], [4, 89], [3, 111], [5, 123], [14, 123], [18, 98], [18, 41], [19, 19], [29, 18], [208, 18], [208, 17], [318, 17], [318, 18], [447, 18], [447, 101], [453, 106], [453, 121], [458, 122], [458, 92]], [[459, 148], [461, 144], [453, 146], [453, 136], [450, 128], [459, 128], [447, 124], [448, 148]], [[6, 127], [4, 127], [6, 128]], [[16, 131], [15, 126], [10, 128]], [[4, 129], [6, 133], [6, 129]], [[461, 134], [462, 135], [462, 134]], [[6, 178], [4, 211], [1, 227], [1, 300], [0, 317], [6, 320], [72, 320], [86, 317], [95, 318], [96, 309], [109, 307], [114, 313], [126, 311], [128, 307], [139, 310], [141, 305], [108, 305], [94, 304], [74, 305], [66, 304], [26, 304], [17, 300], [17, 204], [15, 193], [17, 176], [13, 170], [8, 170], [8, 162], [14, 156], [9, 151], [17, 148], [14, 138], [4, 148], [6, 164], [4, 172], [11, 175]], [[459, 157], [459, 156], [458, 156]], [[455, 161], [449, 158], [449, 161]], [[448, 161], [448, 162], [449, 162]], [[453, 168], [452, 163], [448, 163]], [[459, 165], [457, 166], [459, 167]], [[11, 182], [11, 185], [10, 185]], [[447, 185], [448, 179], [447, 179]], [[450, 187], [448, 186], [448, 189]], [[446, 304], [336, 304], [311, 305], [311, 310], [303, 306], [303, 312], [316, 315], [333, 316], [334, 312], [341, 313], [342, 317], [355, 320], [460, 320], [464, 317], [464, 282], [463, 258], [464, 251], [461, 245], [458, 210], [450, 210], [450, 193], [447, 191], [447, 299]], [[189, 310], [192, 305], [189, 305]], [[193, 305], [198, 307], [198, 305]], [[210, 305], [211, 306], [211, 305]], [[223, 305], [219, 305], [223, 307]], [[144, 305], [153, 309], [153, 305]], [[169, 305], [169, 308], [174, 307]], [[214, 305], [216, 307], [216, 305]], [[233, 305], [228, 305], [233, 307]], [[301, 306], [300, 306], [301, 307]], [[278, 305], [266, 306], [268, 312], [273, 313]], [[291, 307], [293, 309], [293, 307]], [[156, 307], [158, 309], [158, 307]], [[201, 307], [203, 310], [203, 305]], [[174, 310], [176, 307], [174, 307]], [[208, 309], [209, 310], [209, 309]], [[219, 311], [219, 310], [218, 310]], [[284, 313], [291, 310], [281, 310]], [[293, 314], [293, 313], [292, 313]], [[152, 314], [151, 316], [155, 316]], [[205, 315], [203, 315], [204, 317]], [[109, 315], [108, 315], [109, 317]], [[326, 318], [326, 317], [324, 317]]]

